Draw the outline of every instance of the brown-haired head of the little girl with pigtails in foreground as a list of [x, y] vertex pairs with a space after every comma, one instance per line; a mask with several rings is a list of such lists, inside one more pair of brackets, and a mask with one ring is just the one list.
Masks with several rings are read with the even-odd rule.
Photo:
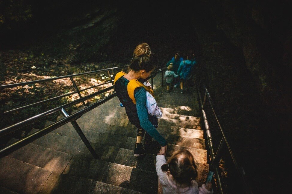
[[180, 150], [173, 154], [161, 169], [168, 175], [171, 174], [179, 184], [191, 185], [192, 180], [198, 176], [194, 157], [188, 150]]

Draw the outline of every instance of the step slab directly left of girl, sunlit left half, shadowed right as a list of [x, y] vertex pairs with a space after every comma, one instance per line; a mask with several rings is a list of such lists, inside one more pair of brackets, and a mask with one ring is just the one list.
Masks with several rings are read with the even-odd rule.
[[157, 193], [158, 190], [156, 172], [115, 163], [108, 165], [102, 182], [143, 193]]

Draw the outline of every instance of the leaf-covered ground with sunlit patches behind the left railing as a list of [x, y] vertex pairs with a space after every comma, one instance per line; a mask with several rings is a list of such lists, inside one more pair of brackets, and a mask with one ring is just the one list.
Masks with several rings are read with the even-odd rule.
[[[0, 52], [1, 58], [1, 80], [0, 85], [20, 83], [26, 81], [47, 79], [71, 74], [78, 74], [84, 72], [90, 72], [94, 70], [105, 69], [109, 67], [122, 67], [125, 64], [122, 63], [84, 63], [79, 65], [72, 65], [72, 61], [63, 58], [54, 58], [44, 53], [40, 53], [38, 56], [29, 51], [23, 52], [19, 50], [10, 50], [7, 52]], [[111, 75], [105, 72], [91, 73], [82, 76], [75, 76], [73, 79], [79, 90], [86, 89], [95, 85], [105, 83], [113, 78], [117, 70], [111, 71]], [[110, 77], [111, 76], [111, 77]], [[106, 87], [111, 86], [111, 83], [103, 84], [99, 87], [93, 87], [88, 90], [81, 91], [81, 96], [87, 96]], [[70, 78], [56, 79], [43, 83], [27, 84], [24, 86], [17, 86], [12, 88], [1, 89], [1, 112], [13, 110], [18, 107], [29, 105], [38, 101], [46, 100], [56, 96], [75, 92], [75, 87], [72, 84]], [[102, 93], [99, 96], [91, 98], [85, 103], [94, 102], [98, 99], [104, 98], [113, 93], [113, 90]], [[80, 98], [78, 93], [65, 96], [58, 100], [38, 104], [33, 107], [26, 108], [24, 110], [16, 111], [15, 113], [5, 114], [9, 118], [11, 123], [22, 121], [26, 118], [34, 116], [35, 114], [42, 113], [44, 110], [49, 110], [60, 106], [61, 104], [73, 101]], [[72, 108], [68, 108], [70, 113], [72, 109], [78, 109], [82, 106], [82, 103], [76, 104]], [[18, 115], [17, 117], [15, 115]], [[50, 116], [50, 119], [54, 120], [58, 114]], [[1, 129], [7, 127], [9, 121], [1, 118]], [[15, 133], [11, 133], [9, 137], [23, 137], [32, 127], [41, 128], [44, 126], [44, 122], [40, 121], [33, 126], [22, 128], [22, 130]], [[8, 137], [8, 138], [9, 138]], [[7, 139], [8, 139], [7, 138]], [[7, 140], [6, 139], [6, 140]], [[5, 141], [1, 141], [3, 146]]]

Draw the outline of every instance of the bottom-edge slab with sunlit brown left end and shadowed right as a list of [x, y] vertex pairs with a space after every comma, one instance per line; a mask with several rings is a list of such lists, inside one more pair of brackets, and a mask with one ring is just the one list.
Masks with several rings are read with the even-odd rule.
[[88, 193], [93, 180], [53, 172], [40, 193]]

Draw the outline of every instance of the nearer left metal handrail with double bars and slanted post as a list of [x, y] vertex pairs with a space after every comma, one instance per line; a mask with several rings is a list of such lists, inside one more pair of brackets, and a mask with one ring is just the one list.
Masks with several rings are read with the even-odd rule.
[[[127, 66], [124, 66], [124, 67], [127, 67]], [[122, 68], [122, 67], [119, 67], [119, 68]], [[113, 68], [111, 68], [111, 69], [113, 69]], [[99, 71], [102, 71], [102, 70], [99, 70]], [[152, 79], [152, 83], [153, 83], [153, 78], [158, 73], [161, 73], [162, 72], [162, 74], [163, 74], [163, 70], [158, 69], [158, 70], [155, 70], [154, 72], [155, 73], [152, 73], [152, 75], [149, 76], [149, 78]], [[84, 73], [82, 75], [84, 75]], [[57, 129], [58, 127], [66, 124], [68, 122], [71, 122], [71, 124], [73, 125], [73, 127], [77, 131], [78, 135], [81, 137], [82, 141], [84, 142], [84, 144], [86, 145], [86, 147], [88, 148], [88, 150], [90, 151], [90, 153], [93, 155], [94, 158], [98, 159], [99, 156], [93, 150], [92, 146], [90, 145], [89, 141], [87, 140], [87, 138], [85, 137], [84, 133], [82, 132], [82, 130], [80, 129], [80, 127], [78, 126], [78, 124], [76, 123], [75, 120], [78, 119], [79, 117], [81, 117], [83, 114], [89, 112], [90, 110], [92, 110], [92, 109], [98, 107], [99, 105], [105, 103], [106, 101], [110, 100], [111, 98], [114, 98], [116, 96], [116, 93], [111, 94], [110, 96], [105, 97], [105, 98], [101, 99], [100, 101], [98, 101], [96, 103], [93, 103], [90, 106], [85, 107], [85, 108], [77, 111], [76, 113], [74, 113], [72, 115], [69, 115], [66, 112], [65, 108], [71, 107], [74, 104], [78, 104], [81, 101], [84, 101], [84, 100], [87, 100], [87, 99], [92, 98], [94, 96], [97, 96], [100, 93], [103, 93], [105, 91], [111, 90], [113, 88], [114, 88], [114, 85], [111, 86], [111, 87], [105, 88], [103, 90], [100, 90], [100, 91], [98, 91], [96, 93], [93, 93], [93, 94], [90, 94], [90, 95], [81, 97], [81, 98], [79, 98], [79, 99], [77, 99], [75, 101], [71, 101], [71, 102], [69, 102], [67, 104], [64, 104], [62, 106], [59, 106], [59, 107], [56, 107], [54, 109], [48, 110], [48, 111], [46, 111], [44, 113], [35, 115], [35, 116], [30, 117], [30, 118], [28, 118], [28, 119], [26, 119], [24, 121], [18, 122], [16, 124], [10, 125], [9, 127], [6, 127], [4, 129], [0, 130], [0, 136], [4, 136], [4, 135], [6, 135], [8, 133], [11, 133], [13, 131], [19, 130], [22, 127], [25, 127], [25, 126], [27, 126], [29, 124], [32, 124], [32, 123], [34, 123], [36, 121], [39, 121], [39, 120], [41, 120], [43, 118], [46, 118], [47, 116], [49, 116], [49, 115], [51, 115], [53, 113], [56, 113], [58, 111], [61, 111], [64, 114], [64, 116], [65, 116], [65, 118], [63, 118], [63, 119], [55, 122], [54, 124], [51, 124], [51, 125], [43, 128], [42, 130], [39, 130], [39, 131], [37, 131], [37, 132], [35, 132], [35, 133], [33, 133], [33, 134], [31, 134], [31, 135], [29, 135], [29, 136], [27, 136], [27, 137], [19, 140], [19, 141], [14, 142], [13, 144], [11, 144], [11, 145], [9, 145], [7, 147], [4, 147], [3, 149], [0, 150], [0, 158], [2, 158], [4, 156], [10, 154], [11, 152], [13, 152], [13, 151], [15, 151], [15, 150], [17, 150], [17, 149], [19, 149], [19, 148], [21, 148], [21, 147], [29, 144], [29, 143], [31, 143], [32, 141], [34, 141], [34, 140], [36, 140], [36, 139], [38, 139], [38, 138], [46, 135], [47, 133], [50, 133], [51, 131]]]

